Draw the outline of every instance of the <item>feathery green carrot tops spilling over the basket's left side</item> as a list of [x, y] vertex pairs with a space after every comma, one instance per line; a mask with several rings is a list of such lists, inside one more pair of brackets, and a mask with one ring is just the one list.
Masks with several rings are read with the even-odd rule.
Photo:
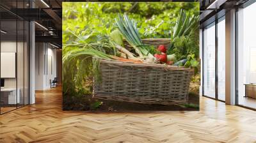
[[65, 33], [72, 35], [72, 41], [63, 43], [63, 94], [90, 94], [92, 86], [84, 83], [92, 77], [100, 79], [99, 62], [92, 57], [112, 59], [111, 55], [117, 54], [116, 47], [108, 35], [97, 32], [76, 34], [69, 29]]

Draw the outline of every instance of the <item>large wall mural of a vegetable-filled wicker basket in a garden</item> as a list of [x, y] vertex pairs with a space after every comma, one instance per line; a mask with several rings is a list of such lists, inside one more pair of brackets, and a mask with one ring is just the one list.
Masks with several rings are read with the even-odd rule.
[[63, 3], [63, 109], [199, 110], [199, 3]]

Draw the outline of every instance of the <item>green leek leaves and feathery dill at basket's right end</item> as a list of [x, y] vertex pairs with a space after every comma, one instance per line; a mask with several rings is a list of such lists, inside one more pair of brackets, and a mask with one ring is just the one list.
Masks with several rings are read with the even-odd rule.
[[[175, 27], [171, 27], [171, 33], [168, 53], [175, 53], [177, 60], [184, 59], [189, 54], [199, 53], [199, 16], [190, 16], [187, 15], [186, 11], [180, 10]], [[198, 54], [196, 54], [197, 56]]]

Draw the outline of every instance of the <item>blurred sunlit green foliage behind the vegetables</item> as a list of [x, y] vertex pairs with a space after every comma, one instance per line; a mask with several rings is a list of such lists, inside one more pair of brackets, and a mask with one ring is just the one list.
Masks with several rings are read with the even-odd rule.
[[141, 38], [170, 38], [170, 29], [183, 8], [187, 15], [199, 15], [199, 3], [104, 2], [63, 3], [63, 43], [72, 41], [65, 31], [76, 34], [109, 34], [118, 13], [138, 22]]

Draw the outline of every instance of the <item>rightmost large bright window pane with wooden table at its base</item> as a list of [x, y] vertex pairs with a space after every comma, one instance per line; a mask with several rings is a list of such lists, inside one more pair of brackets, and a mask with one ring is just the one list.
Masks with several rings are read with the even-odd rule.
[[238, 104], [256, 109], [256, 3], [238, 11]]

